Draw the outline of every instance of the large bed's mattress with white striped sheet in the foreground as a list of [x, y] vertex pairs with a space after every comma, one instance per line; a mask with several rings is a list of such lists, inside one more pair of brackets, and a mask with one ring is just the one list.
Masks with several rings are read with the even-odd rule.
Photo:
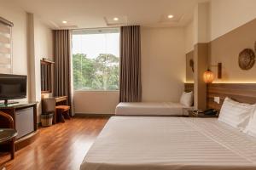
[[216, 118], [113, 116], [81, 170], [255, 170], [256, 139]]

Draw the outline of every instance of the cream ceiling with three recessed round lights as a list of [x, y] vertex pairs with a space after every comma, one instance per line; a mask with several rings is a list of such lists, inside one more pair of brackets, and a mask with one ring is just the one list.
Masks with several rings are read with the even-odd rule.
[[[14, 0], [53, 29], [141, 25], [185, 26], [206, 0]], [[174, 17], [168, 19], [168, 14]], [[119, 20], [113, 20], [118, 17]], [[67, 24], [63, 24], [66, 20]]]

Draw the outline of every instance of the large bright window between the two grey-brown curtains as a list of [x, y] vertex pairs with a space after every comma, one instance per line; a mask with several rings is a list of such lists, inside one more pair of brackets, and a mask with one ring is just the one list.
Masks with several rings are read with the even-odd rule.
[[119, 29], [73, 31], [74, 90], [119, 89]]

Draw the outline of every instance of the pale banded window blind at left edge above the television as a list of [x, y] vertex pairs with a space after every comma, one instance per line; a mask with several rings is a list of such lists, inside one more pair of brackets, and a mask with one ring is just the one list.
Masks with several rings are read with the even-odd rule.
[[14, 24], [0, 17], [0, 73], [12, 73], [12, 27]]

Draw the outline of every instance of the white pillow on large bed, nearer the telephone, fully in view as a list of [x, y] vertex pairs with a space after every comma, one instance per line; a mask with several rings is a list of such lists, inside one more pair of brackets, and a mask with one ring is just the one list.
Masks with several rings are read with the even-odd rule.
[[254, 107], [255, 105], [239, 103], [230, 98], [225, 98], [218, 121], [229, 124], [239, 130], [244, 130], [247, 127]]

